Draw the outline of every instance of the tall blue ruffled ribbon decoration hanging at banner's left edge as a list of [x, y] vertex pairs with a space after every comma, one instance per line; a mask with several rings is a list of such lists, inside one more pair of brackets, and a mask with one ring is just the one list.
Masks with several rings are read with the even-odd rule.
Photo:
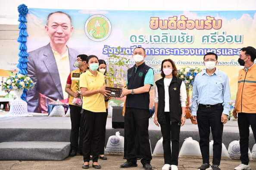
[[[23, 74], [26, 75], [28, 74], [28, 52], [27, 52], [27, 37], [28, 37], [28, 32], [27, 32], [27, 26], [26, 26], [26, 15], [28, 14], [28, 7], [25, 4], [21, 4], [18, 6], [18, 12], [19, 12], [19, 37], [17, 41], [20, 43], [19, 44], [19, 64], [17, 65], [17, 68], [19, 68], [19, 73], [18, 74]], [[27, 97], [27, 89], [23, 90], [21, 99], [26, 101]]]

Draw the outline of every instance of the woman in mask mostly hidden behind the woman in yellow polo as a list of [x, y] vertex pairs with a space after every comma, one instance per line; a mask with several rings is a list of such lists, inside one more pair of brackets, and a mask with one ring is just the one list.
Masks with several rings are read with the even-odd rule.
[[[99, 68], [98, 71], [100, 71], [102, 74], [106, 74], [106, 62], [102, 59], [99, 59]], [[105, 77], [105, 83], [106, 82], [106, 77]], [[108, 117], [108, 101], [109, 101], [109, 97], [105, 98], [105, 106], [106, 106], [106, 114], [104, 115], [104, 124], [103, 124], [103, 134], [101, 136], [100, 139], [100, 159], [102, 160], [107, 160], [107, 157], [104, 155], [104, 148], [105, 148], [105, 138], [106, 138], [106, 120]]]

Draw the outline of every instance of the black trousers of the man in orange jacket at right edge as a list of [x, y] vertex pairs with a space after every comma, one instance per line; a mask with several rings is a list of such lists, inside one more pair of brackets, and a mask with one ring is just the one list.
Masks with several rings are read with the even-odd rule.
[[238, 113], [238, 128], [240, 136], [240, 160], [242, 164], [248, 165], [248, 147], [249, 147], [249, 135], [251, 126], [253, 130], [253, 136], [256, 142], [256, 114], [251, 113]]

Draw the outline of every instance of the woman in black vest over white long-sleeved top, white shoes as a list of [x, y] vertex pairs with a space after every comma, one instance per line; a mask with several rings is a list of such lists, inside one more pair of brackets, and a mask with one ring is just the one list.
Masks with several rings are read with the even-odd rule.
[[[164, 166], [162, 170], [178, 170], [180, 128], [186, 121], [186, 86], [177, 76], [177, 68], [171, 59], [161, 65], [162, 78], [156, 81], [155, 118], [163, 137]], [[158, 124], [159, 123], [159, 124]], [[172, 141], [172, 149], [171, 149]]]

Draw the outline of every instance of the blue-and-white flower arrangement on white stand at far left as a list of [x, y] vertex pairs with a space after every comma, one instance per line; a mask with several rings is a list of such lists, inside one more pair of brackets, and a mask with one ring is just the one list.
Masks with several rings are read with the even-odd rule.
[[16, 74], [7, 78], [3, 84], [4, 90], [14, 90], [16, 99], [11, 103], [10, 111], [6, 116], [10, 117], [24, 117], [30, 116], [28, 114], [28, 104], [21, 99], [23, 90], [30, 90], [34, 88], [34, 82], [28, 75]]

